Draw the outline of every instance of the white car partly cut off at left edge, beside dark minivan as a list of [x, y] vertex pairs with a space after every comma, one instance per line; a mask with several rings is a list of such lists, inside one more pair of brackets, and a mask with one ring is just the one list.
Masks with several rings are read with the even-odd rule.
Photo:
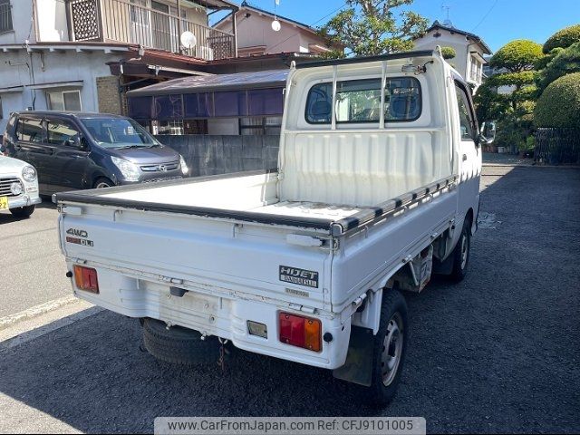
[[0, 210], [10, 209], [15, 218], [28, 218], [41, 201], [36, 169], [0, 154]]

